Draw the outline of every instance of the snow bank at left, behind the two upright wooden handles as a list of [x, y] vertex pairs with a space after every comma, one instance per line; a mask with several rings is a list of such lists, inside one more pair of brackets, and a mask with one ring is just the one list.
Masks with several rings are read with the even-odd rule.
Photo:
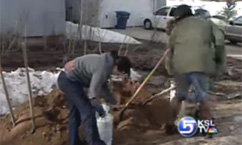
[[[58, 73], [35, 71], [29, 68], [33, 96], [42, 96], [50, 93], [56, 85]], [[4, 78], [12, 106], [17, 106], [28, 100], [26, 71], [19, 68], [9, 73], [4, 72]], [[9, 113], [5, 92], [0, 81], [0, 116]]]

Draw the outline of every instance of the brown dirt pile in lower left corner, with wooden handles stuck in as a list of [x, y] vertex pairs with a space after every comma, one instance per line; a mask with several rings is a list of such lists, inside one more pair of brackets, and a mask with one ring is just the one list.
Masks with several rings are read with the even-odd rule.
[[48, 96], [34, 99], [36, 132], [31, 134], [32, 122], [28, 103], [16, 108], [17, 125], [12, 128], [10, 118], [1, 120], [1, 145], [64, 145], [68, 140], [68, 110], [63, 95], [53, 91]]

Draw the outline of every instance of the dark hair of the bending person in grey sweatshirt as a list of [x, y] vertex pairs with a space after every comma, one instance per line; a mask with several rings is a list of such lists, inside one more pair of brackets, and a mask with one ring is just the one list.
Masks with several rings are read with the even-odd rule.
[[127, 73], [130, 76], [131, 62], [125, 56], [118, 56], [115, 60], [118, 71]]

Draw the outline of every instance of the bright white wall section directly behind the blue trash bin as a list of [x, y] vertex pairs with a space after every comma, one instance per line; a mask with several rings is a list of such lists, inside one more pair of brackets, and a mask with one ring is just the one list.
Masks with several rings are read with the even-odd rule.
[[[158, 1], [158, 2], [157, 2]], [[158, 5], [166, 0], [103, 0], [100, 8], [101, 27], [112, 28], [117, 23], [115, 11], [130, 12], [127, 26], [143, 26], [144, 19], [150, 17]]]

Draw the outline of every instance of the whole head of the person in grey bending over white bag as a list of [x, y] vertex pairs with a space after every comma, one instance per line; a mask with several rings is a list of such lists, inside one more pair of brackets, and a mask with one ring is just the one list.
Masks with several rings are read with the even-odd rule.
[[131, 62], [125, 56], [118, 56], [117, 51], [112, 51], [111, 56], [114, 58], [114, 73], [127, 74], [130, 76]]

